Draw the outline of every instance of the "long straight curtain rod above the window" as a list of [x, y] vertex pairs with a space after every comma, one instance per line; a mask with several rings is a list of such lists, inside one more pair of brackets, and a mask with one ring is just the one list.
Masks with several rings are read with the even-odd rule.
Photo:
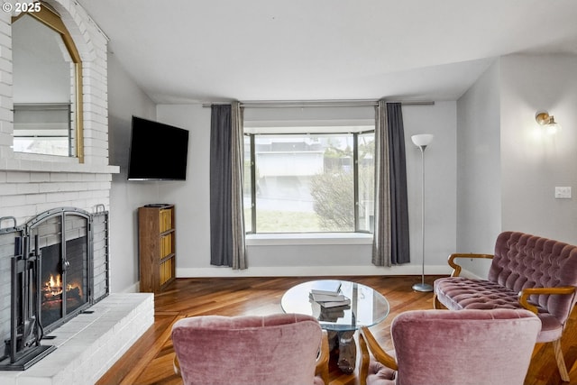
[[[387, 101], [401, 105], [435, 105], [434, 101]], [[211, 105], [229, 105], [231, 102], [203, 103], [203, 107]], [[378, 105], [378, 100], [255, 100], [240, 102], [242, 107], [279, 108], [279, 107], [359, 107]]]

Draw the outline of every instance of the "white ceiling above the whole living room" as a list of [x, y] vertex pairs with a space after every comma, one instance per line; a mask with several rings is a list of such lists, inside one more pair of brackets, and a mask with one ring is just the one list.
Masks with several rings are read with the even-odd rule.
[[577, 54], [575, 0], [78, 0], [156, 103], [456, 100], [495, 58]]

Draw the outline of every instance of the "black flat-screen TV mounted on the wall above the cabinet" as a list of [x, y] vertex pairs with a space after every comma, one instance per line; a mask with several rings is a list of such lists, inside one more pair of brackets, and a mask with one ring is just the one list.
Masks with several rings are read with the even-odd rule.
[[133, 116], [129, 180], [185, 180], [187, 157], [187, 130]]

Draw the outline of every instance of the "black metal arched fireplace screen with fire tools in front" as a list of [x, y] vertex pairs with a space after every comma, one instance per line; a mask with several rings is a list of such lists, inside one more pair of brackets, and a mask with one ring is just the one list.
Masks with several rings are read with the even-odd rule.
[[[25, 370], [54, 348], [41, 339], [108, 295], [108, 213], [61, 207], [26, 225], [0, 229], [0, 267], [11, 281], [0, 286], [4, 356], [0, 370]], [[6, 219], [0, 218], [0, 225]], [[4, 269], [4, 268], [3, 268]]]

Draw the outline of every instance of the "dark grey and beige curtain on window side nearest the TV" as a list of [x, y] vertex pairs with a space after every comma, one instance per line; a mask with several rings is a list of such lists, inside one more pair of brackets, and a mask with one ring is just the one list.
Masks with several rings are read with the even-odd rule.
[[243, 219], [243, 112], [212, 105], [210, 124], [210, 264], [246, 269]]

